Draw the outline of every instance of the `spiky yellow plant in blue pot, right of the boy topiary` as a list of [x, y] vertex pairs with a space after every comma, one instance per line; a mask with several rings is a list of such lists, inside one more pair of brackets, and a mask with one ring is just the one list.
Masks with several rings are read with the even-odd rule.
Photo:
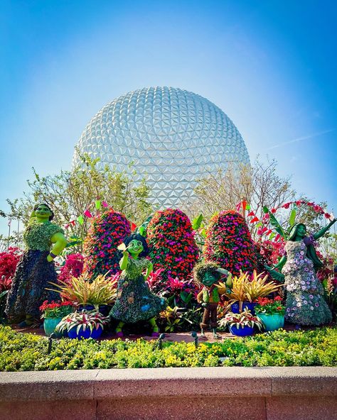
[[[251, 276], [248, 272], [240, 272], [240, 276], [232, 277], [232, 287], [229, 292], [224, 294], [229, 299], [229, 307], [232, 312], [238, 314], [247, 308], [254, 314], [256, 300], [276, 292], [282, 286], [282, 284], [268, 282], [267, 278], [268, 275], [257, 274], [255, 270]], [[221, 282], [219, 285], [225, 287], [225, 284]]]

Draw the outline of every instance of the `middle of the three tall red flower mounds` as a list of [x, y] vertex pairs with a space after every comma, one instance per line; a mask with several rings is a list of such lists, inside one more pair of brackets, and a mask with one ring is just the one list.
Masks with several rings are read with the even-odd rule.
[[147, 228], [149, 258], [154, 270], [163, 268], [163, 279], [191, 274], [198, 261], [198, 245], [194, 239], [191, 221], [183, 211], [166, 209], [156, 211]]

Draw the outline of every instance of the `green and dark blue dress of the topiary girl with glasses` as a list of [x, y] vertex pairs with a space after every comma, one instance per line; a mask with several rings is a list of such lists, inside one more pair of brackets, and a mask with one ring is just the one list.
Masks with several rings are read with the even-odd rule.
[[147, 321], [166, 308], [166, 299], [153, 294], [142, 275], [150, 264], [146, 258], [129, 256], [127, 268], [118, 280], [116, 303], [109, 314], [112, 318], [134, 324]]

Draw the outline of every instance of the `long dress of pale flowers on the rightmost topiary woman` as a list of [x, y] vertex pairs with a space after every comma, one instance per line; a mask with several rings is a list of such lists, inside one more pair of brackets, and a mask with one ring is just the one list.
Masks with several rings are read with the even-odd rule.
[[312, 239], [287, 241], [287, 262], [282, 268], [287, 289], [285, 319], [292, 324], [322, 325], [331, 321], [331, 311], [323, 297], [323, 286], [316, 277], [314, 263], [306, 256]]

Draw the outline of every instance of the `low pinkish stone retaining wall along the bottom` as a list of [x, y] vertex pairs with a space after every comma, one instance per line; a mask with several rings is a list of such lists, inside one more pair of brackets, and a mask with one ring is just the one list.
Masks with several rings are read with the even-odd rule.
[[0, 420], [337, 420], [335, 367], [0, 373]]

